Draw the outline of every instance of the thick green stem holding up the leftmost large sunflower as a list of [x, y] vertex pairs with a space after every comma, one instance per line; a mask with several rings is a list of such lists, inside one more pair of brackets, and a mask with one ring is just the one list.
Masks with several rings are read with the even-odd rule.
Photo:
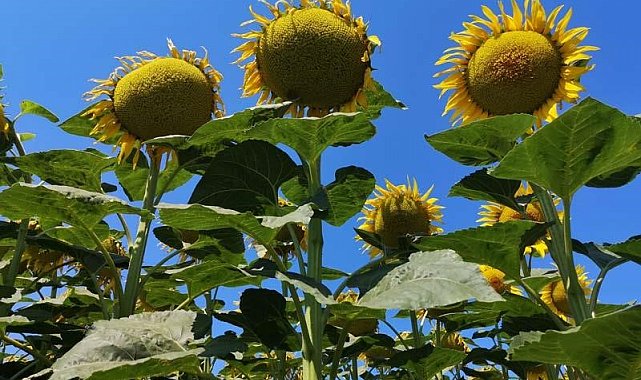
[[134, 240], [133, 246], [129, 249], [129, 270], [127, 271], [127, 283], [120, 306], [120, 317], [130, 316], [136, 308], [136, 300], [138, 299], [138, 292], [140, 291], [139, 282], [142, 263], [145, 257], [145, 249], [147, 248], [147, 238], [149, 237], [151, 222], [156, 212], [154, 201], [156, 198], [158, 176], [160, 174], [160, 161], [161, 156], [151, 155], [151, 167], [149, 168], [149, 176], [147, 177], [145, 196], [143, 198], [143, 209], [149, 211], [149, 215], [140, 218], [138, 231], [136, 232], [136, 240]]

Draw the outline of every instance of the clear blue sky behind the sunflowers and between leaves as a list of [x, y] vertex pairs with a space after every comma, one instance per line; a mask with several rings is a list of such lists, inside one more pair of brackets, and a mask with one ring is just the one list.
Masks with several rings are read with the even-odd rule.
[[[325, 182], [334, 170], [358, 165], [373, 172], [379, 183], [395, 183], [416, 177], [422, 190], [435, 185], [434, 196], [444, 205], [446, 231], [475, 226], [480, 206], [461, 198], [447, 198], [449, 188], [473, 169], [456, 164], [425, 143], [423, 135], [449, 128], [441, 117], [445, 99], [438, 100], [432, 75], [434, 62], [452, 46], [450, 32], [459, 31], [467, 15], [480, 14], [482, 4], [496, 10], [494, 1], [478, 0], [353, 0], [356, 15], [370, 22], [383, 48], [373, 57], [375, 79], [409, 106], [407, 111], [388, 110], [376, 121], [378, 134], [356, 147], [334, 148], [324, 161]], [[506, 1], [509, 3], [509, 1]], [[557, 0], [544, 1], [549, 11]], [[139, 50], [166, 54], [166, 38], [179, 48], [207, 48], [214, 66], [222, 72], [222, 96], [229, 113], [254, 105], [256, 99], [241, 99], [242, 71], [231, 62], [230, 51], [239, 40], [230, 34], [246, 29], [248, 6], [263, 10], [254, 0], [7, 0], [2, 2], [2, 85], [8, 112], [15, 115], [22, 99], [39, 102], [62, 120], [86, 106], [82, 93], [92, 85], [89, 78], [105, 78], [116, 66], [114, 56]], [[574, 8], [571, 27], [588, 26], [585, 43], [601, 51], [593, 54], [596, 69], [583, 78], [587, 95], [629, 114], [641, 113], [641, 51], [638, 15], [641, 2], [619, 0], [568, 0]], [[267, 13], [267, 12], [263, 12]], [[586, 95], [586, 96], [587, 96]], [[18, 128], [38, 135], [27, 143], [30, 152], [47, 149], [84, 149], [92, 140], [64, 134], [55, 125], [24, 118]], [[102, 147], [110, 152], [108, 147]], [[574, 237], [584, 241], [621, 241], [640, 234], [636, 180], [622, 189], [586, 189], [573, 204]], [[185, 203], [189, 190], [177, 191], [165, 200]], [[360, 244], [353, 241], [354, 218], [342, 229], [326, 228], [324, 260], [329, 266], [351, 271], [367, 261]], [[150, 247], [155, 257], [158, 251]], [[579, 260], [585, 263], [585, 260]], [[587, 265], [591, 276], [597, 269]], [[638, 297], [641, 269], [626, 264], [615, 269], [604, 283], [601, 300], [627, 302]], [[232, 291], [229, 294], [236, 294]]]

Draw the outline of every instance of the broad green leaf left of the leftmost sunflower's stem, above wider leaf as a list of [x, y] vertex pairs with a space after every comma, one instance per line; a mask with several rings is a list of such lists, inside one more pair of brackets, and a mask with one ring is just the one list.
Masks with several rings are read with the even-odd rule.
[[52, 185], [101, 192], [100, 175], [113, 165], [114, 160], [88, 151], [50, 150], [16, 157], [10, 162]]

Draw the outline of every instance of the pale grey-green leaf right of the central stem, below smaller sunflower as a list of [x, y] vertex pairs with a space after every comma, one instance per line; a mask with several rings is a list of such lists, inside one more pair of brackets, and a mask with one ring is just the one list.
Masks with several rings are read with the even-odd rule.
[[386, 274], [359, 305], [372, 309], [427, 309], [476, 299], [501, 301], [477, 265], [452, 250], [416, 252]]

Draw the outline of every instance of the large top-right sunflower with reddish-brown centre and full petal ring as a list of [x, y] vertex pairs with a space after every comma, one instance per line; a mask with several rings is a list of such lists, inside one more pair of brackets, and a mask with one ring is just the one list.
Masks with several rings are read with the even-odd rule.
[[581, 76], [592, 70], [587, 52], [579, 46], [588, 28], [568, 29], [572, 9], [557, 22], [563, 6], [549, 15], [539, 0], [525, 0], [523, 10], [512, 0], [512, 13], [500, 15], [483, 6], [486, 18], [471, 16], [465, 30], [452, 33], [458, 46], [445, 50], [436, 65], [451, 66], [435, 75], [447, 77], [434, 87], [441, 95], [452, 90], [443, 115], [452, 111], [454, 123], [495, 115], [527, 113], [543, 120], [557, 117], [557, 104], [575, 103], [584, 87]]

